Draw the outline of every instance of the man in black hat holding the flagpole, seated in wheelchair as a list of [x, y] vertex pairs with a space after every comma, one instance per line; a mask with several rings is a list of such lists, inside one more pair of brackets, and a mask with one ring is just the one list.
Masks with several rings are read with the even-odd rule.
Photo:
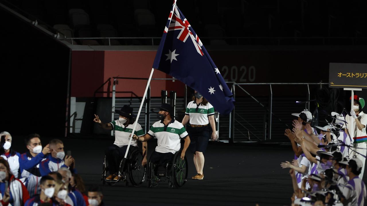
[[175, 121], [172, 114], [172, 106], [167, 103], [162, 104], [157, 115], [160, 121], [155, 122], [146, 135], [140, 137], [137, 135], [133, 136], [134, 140], [143, 142], [156, 137], [158, 145], [150, 156], [150, 162], [164, 167], [172, 161], [175, 153], [180, 150], [181, 139], [185, 140], [180, 155], [181, 159], [184, 159], [185, 152], [190, 145], [190, 137], [185, 127], [181, 122]]

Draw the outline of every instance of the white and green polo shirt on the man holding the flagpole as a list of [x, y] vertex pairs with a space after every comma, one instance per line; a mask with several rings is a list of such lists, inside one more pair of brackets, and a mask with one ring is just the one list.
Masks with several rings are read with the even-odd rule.
[[188, 136], [188, 133], [181, 122], [172, 119], [168, 125], [164, 125], [162, 121], [155, 122], [148, 131], [148, 135], [158, 140], [156, 152], [175, 154], [181, 148], [181, 138]]

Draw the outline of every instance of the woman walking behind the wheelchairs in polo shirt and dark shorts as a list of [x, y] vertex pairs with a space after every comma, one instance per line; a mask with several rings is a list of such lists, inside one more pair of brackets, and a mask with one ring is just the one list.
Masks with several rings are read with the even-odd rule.
[[214, 121], [214, 107], [203, 98], [203, 96], [196, 92], [186, 107], [185, 117], [182, 119], [182, 124], [188, 124], [187, 132], [190, 135], [190, 151], [194, 154], [194, 164], [197, 174], [192, 179], [204, 179], [204, 155], [209, 140], [209, 122], [213, 130], [211, 139], [217, 140], [217, 132]]

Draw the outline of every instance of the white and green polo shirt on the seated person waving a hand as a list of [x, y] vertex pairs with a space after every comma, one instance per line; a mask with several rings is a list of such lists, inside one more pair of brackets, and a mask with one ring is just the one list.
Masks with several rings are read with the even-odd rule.
[[[125, 125], [121, 124], [119, 120], [112, 121], [110, 124], [112, 125], [112, 129], [115, 130], [115, 143], [113, 144], [116, 144], [119, 147], [128, 145], [134, 124], [129, 124], [125, 127]], [[137, 123], [137, 128], [135, 129], [134, 134], [137, 136], [144, 135], [144, 131], [139, 123]], [[130, 145], [134, 147], [138, 146], [137, 141], [134, 139], [131, 140]]]

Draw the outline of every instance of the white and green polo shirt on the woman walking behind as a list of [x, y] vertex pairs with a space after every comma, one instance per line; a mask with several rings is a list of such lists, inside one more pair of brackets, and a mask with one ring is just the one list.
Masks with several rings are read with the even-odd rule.
[[207, 125], [209, 124], [208, 116], [214, 115], [214, 107], [209, 102], [204, 106], [191, 101], [186, 107], [185, 114], [190, 116], [190, 124]]

